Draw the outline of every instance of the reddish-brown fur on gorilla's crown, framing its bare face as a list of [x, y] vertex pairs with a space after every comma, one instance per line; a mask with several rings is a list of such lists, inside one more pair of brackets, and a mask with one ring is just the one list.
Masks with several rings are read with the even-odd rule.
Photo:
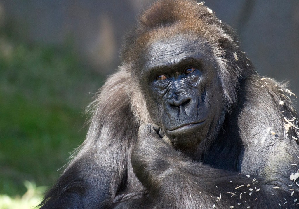
[[[121, 54], [123, 64], [129, 66], [132, 76], [138, 78], [144, 62], [142, 55], [146, 54], [149, 44], [175, 36], [195, 39], [208, 46], [218, 68], [226, 107], [231, 107], [237, 98], [239, 80], [255, 73], [253, 65], [247, 65], [249, 61], [241, 53], [232, 30], [221, 23], [206, 6], [197, 4], [194, 0], [159, 0], [152, 4], [139, 17], [137, 26], [126, 39]], [[238, 61], [233, 53], [237, 53]], [[140, 91], [139, 85], [135, 86], [136, 91]], [[143, 93], [136, 91], [134, 94], [138, 94], [137, 101], [144, 101], [141, 99]], [[144, 111], [145, 108], [136, 105], [135, 100], [133, 96], [133, 108], [141, 116], [139, 111]]]

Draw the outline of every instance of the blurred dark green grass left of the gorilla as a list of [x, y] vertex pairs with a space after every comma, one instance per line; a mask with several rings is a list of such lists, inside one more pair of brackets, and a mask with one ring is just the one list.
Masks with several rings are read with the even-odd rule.
[[103, 78], [73, 51], [0, 34], [0, 194], [23, 195], [25, 180], [53, 185], [83, 142]]

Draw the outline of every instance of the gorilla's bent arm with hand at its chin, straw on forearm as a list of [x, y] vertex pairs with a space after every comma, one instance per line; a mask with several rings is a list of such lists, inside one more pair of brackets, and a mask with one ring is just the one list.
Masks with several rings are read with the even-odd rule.
[[159, 208], [292, 208], [294, 203], [290, 191], [263, 179], [190, 160], [161, 140], [151, 124], [139, 128], [132, 165]]

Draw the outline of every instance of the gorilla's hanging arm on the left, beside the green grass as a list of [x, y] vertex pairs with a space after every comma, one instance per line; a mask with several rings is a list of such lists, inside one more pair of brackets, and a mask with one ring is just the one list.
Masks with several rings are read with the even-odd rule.
[[[126, 74], [107, 79], [94, 101], [86, 140], [41, 203], [45, 208], [102, 208], [111, 205], [127, 173], [129, 140], [138, 125], [129, 106]], [[122, 124], [122, 125], [120, 125]], [[103, 202], [104, 201], [104, 202]]]

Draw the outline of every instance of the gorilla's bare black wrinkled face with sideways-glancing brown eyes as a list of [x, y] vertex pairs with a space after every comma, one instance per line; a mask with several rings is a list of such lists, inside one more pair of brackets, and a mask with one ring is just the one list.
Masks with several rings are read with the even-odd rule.
[[149, 113], [176, 145], [189, 147], [214, 130], [223, 91], [213, 57], [199, 41], [176, 37], [151, 44], [142, 69]]

